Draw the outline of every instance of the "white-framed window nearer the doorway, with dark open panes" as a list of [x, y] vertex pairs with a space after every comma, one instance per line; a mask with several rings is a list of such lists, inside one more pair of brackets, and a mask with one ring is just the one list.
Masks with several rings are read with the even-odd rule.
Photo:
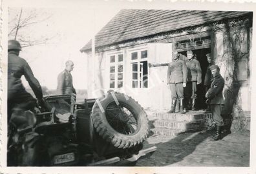
[[131, 52], [132, 87], [147, 88], [147, 50]]

